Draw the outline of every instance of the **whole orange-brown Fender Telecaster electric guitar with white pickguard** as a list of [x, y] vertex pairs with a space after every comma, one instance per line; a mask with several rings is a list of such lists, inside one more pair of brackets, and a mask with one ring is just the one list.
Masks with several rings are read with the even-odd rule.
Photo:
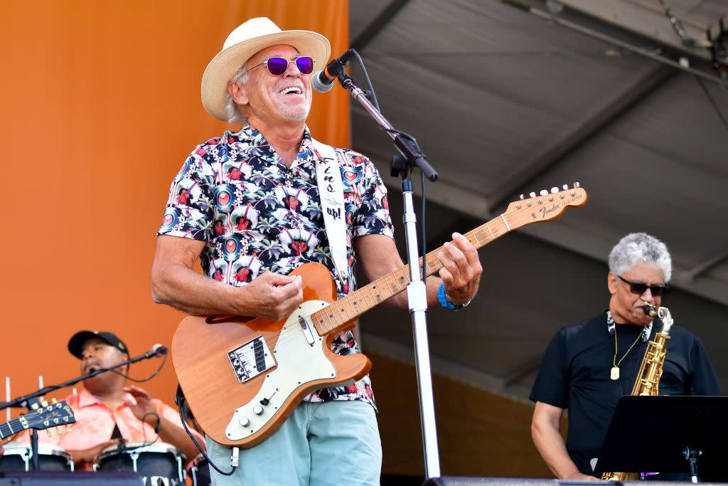
[[[480, 248], [586, 201], [587, 193], [578, 184], [542, 191], [510, 203], [505, 213], [464, 236]], [[442, 267], [436, 256], [440, 249], [427, 254], [427, 275]], [[253, 447], [277, 431], [306, 394], [348, 385], [366, 375], [371, 368], [366, 356], [339, 356], [331, 351], [331, 342], [367, 310], [404, 291], [409, 265], [339, 300], [323, 264], [301, 265], [291, 275], [303, 279], [304, 302], [283, 321], [189, 316], [175, 332], [172, 360], [177, 378], [199, 425], [219, 444]]]

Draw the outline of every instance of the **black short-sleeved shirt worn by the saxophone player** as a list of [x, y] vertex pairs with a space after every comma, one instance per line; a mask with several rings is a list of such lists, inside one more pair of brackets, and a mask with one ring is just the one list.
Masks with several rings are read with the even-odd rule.
[[[617, 361], [643, 328], [617, 324]], [[652, 334], [662, 328], [655, 319]], [[566, 450], [584, 474], [597, 458], [617, 401], [630, 395], [647, 343], [639, 340], [620, 363], [620, 379], [612, 380], [614, 334], [606, 326], [606, 313], [587, 322], [559, 329], [546, 350], [531, 390], [532, 401], [569, 409]], [[720, 395], [708, 353], [700, 338], [678, 326], [670, 329], [668, 353], [662, 367], [660, 395]]]

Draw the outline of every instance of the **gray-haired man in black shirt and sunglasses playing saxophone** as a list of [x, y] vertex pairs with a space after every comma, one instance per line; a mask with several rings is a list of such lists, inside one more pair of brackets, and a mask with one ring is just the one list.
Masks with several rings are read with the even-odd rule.
[[[531, 436], [559, 479], [597, 479], [596, 458], [614, 408], [631, 393], [647, 343], [662, 326], [642, 307], [660, 307], [671, 273], [665, 243], [642, 232], [626, 235], [609, 254], [609, 310], [563, 327], [550, 342], [531, 391]], [[700, 338], [678, 326], [670, 336], [660, 395], [720, 395]]]

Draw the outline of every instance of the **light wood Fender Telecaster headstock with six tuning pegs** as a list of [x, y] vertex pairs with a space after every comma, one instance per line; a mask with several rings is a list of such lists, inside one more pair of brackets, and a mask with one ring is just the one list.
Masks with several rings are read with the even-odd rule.
[[543, 189], [539, 195], [531, 192], [531, 197], [521, 195], [521, 200], [508, 205], [504, 215], [508, 217], [511, 229], [525, 224], [549, 221], [558, 218], [569, 206], [580, 206], [587, 202], [587, 192], [575, 182], [574, 186], [564, 185], [561, 190], [552, 187]]

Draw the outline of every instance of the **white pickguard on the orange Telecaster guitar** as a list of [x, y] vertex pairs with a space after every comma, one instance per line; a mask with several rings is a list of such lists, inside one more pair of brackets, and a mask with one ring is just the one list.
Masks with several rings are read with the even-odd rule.
[[[326, 306], [328, 302], [323, 300], [306, 301], [285, 321], [273, 350], [278, 367], [266, 373], [263, 386], [252, 400], [235, 409], [225, 429], [228, 439], [240, 440], [255, 434], [273, 418], [288, 396], [304, 383], [336, 377], [336, 368], [324, 354], [323, 337], [314, 331], [314, 345], [309, 345], [298, 323], [299, 315], [310, 315]], [[264, 399], [268, 399], [267, 405], [261, 404]], [[256, 407], [258, 411], [262, 409], [261, 415], [254, 411]], [[245, 423], [248, 425], [245, 426]]]

